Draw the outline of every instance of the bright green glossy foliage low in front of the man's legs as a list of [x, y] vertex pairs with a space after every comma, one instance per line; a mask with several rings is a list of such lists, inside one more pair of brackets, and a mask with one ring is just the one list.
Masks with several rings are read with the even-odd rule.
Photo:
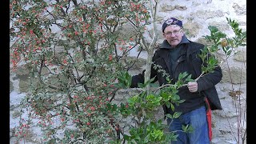
[[[121, 78], [127, 77], [128, 73], [120, 75]], [[121, 79], [118, 78], [118, 79]], [[130, 78], [129, 78], [130, 79]], [[159, 94], [154, 91], [147, 91], [146, 86], [153, 82], [151, 78], [148, 82], [141, 83], [139, 86], [144, 88], [138, 95], [134, 95], [127, 100], [126, 109], [121, 109], [121, 114], [130, 115], [138, 126], [130, 129], [130, 135], [124, 135], [128, 143], [166, 143], [175, 140], [178, 135], [175, 131], [165, 132], [166, 126], [162, 124], [162, 120], [156, 120], [154, 117], [158, 108], [166, 105], [168, 108], [174, 110], [174, 105], [184, 102], [178, 96], [178, 89], [184, 83], [190, 82], [190, 75], [186, 73], [179, 74], [178, 82], [174, 85], [163, 87]], [[119, 85], [126, 86], [126, 81], [119, 81]], [[166, 114], [168, 118], [178, 118], [181, 113], [175, 112]], [[192, 132], [191, 126], [184, 126], [184, 132]]]

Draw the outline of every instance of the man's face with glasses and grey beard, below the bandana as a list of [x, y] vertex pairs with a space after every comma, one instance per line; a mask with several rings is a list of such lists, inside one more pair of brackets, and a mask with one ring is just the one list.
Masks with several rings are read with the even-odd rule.
[[180, 26], [170, 25], [166, 26], [163, 36], [172, 47], [177, 46], [182, 41], [183, 31]]

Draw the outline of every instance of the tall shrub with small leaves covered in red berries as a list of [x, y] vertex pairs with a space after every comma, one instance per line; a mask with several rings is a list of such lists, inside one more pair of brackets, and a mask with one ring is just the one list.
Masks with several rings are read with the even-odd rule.
[[[14, 70], [21, 62], [30, 70], [22, 104], [30, 108], [26, 122], [40, 119], [34, 125], [42, 128], [45, 142], [117, 138], [114, 81], [132, 66], [126, 56], [139, 46], [149, 24], [146, 5], [134, 0], [10, 1], [10, 60]], [[136, 34], [122, 36], [127, 25]], [[60, 130], [65, 132], [60, 135]]]

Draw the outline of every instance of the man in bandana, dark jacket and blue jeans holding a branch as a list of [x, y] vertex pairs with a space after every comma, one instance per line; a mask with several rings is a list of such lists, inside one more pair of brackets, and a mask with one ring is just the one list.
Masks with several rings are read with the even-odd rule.
[[[193, 79], [198, 78], [202, 73], [202, 59], [198, 57], [204, 46], [197, 42], [191, 42], [186, 38], [182, 29], [182, 21], [177, 18], [168, 18], [162, 25], [162, 34], [165, 40], [155, 51], [153, 62], [162, 67], [167, 74], [170, 74], [172, 84], [177, 82], [178, 74], [187, 72]], [[132, 77], [131, 87], [138, 87], [138, 83], [144, 82], [144, 72]], [[166, 78], [158, 70], [151, 68], [151, 78], [154, 82], [158, 80], [159, 85], [166, 84]], [[175, 106], [174, 111], [182, 112], [179, 118], [167, 118], [170, 131], [177, 131], [177, 141], [172, 143], [184, 144], [207, 144], [210, 143], [210, 119], [206, 117], [206, 102], [209, 110], [222, 110], [215, 85], [222, 79], [222, 70], [219, 66], [214, 68], [213, 73], [205, 74], [196, 82], [189, 82], [178, 90], [180, 99], [185, 102]], [[208, 100], [207, 100], [208, 99]], [[208, 103], [208, 104], [209, 104]], [[163, 106], [165, 114], [174, 114], [170, 108]], [[173, 120], [173, 121], [172, 121]], [[171, 122], [172, 121], [172, 122]], [[190, 125], [192, 133], [182, 132], [182, 125]]]

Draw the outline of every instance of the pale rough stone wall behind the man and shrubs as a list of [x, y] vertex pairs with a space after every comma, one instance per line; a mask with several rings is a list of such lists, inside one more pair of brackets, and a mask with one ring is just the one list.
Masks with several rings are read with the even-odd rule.
[[[186, 36], [191, 41], [205, 43], [202, 36], [210, 34], [208, 26], [218, 26], [219, 30], [234, 36], [230, 26], [226, 22], [226, 18], [236, 20], [242, 30], [246, 30], [246, 1], [243, 0], [159, 0], [158, 1], [158, 44], [163, 41], [162, 22], [169, 17], [182, 19]], [[129, 30], [129, 27], [127, 27]], [[148, 26], [147, 30], [152, 34], [152, 26]], [[132, 34], [132, 33], [126, 33]], [[126, 35], [127, 37], [127, 35]], [[146, 35], [147, 41], [150, 42], [150, 36]], [[238, 106], [246, 112], [246, 47], [238, 47], [238, 52], [222, 64], [223, 78], [216, 88], [219, 98], [221, 99], [223, 110], [213, 111], [213, 140], [212, 143], [237, 143], [238, 129]], [[130, 57], [134, 58], [138, 54], [138, 50], [131, 50]], [[220, 58], [226, 58], [220, 52]], [[146, 51], [142, 51], [139, 61], [136, 62], [130, 74], [138, 74], [142, 72], [146, 64]], [[26, 94], [29, 82], [28, 71], [24, 66], [18, 67], [17, 71], [10, 71], [10, 131], [17, 125], [18, 119], [16, 115], [19, 113], [18, 102]], [[132, 89], [133, 90], [133, 89]], [[238, 93], [232, 94], [231, 90]], [[121, 90], [117, 93], [117, 98], [129, 93], [127, 90]], [[239, 96], [240, 95], [240, 96]], [[162, 117], [162, 111], [159, 111], [159, 118]], [[242, 115], [243, 117], [243, 115]], [[242, 122], [246, 122], [246, 118], [242, 118]], [[10, 133], [10, 137], [13, 135]], [[234, 138], [234, 136], [236, 138]], [[31, 136], [30, 142], [33, 143]], [[29, 142], [29, 141], [27, 141]], [[11, 143], [11, 141], [10, 141]], [[241, 139], [240, 139], [241, 143]]]

